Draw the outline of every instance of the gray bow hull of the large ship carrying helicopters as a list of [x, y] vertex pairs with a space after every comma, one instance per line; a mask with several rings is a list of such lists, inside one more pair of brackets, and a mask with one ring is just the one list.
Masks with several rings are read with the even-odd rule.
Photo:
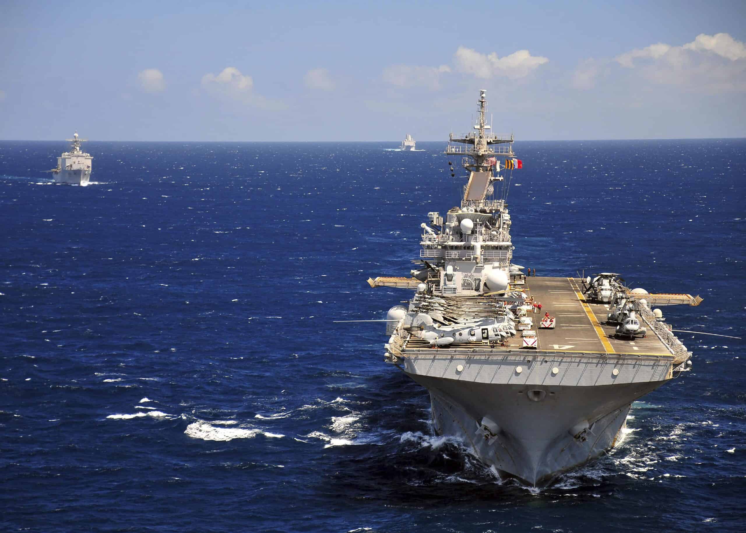
[[[483, 463], [530, 485], [547, 484], [612, 449], [631, 403], [670, 378], [659, 365], [621, 359], [470, 359], [419, 358], [402, 370], [429, 390], [437, 434], [460, 438]], [[454, 375], [457, 364], [464, 370]], [[554, 365], [561, 373], [551, 378]], [[511, 378], [501, 376], [505, 367]]]

